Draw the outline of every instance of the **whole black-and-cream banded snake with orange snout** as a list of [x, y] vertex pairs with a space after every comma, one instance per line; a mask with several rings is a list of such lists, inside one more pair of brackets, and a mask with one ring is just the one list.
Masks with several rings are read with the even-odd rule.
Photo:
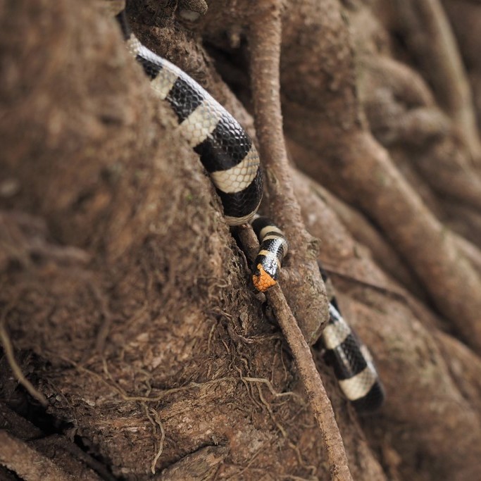
[[[142, 65], [151, 87], [168, 102], [179, 128], [199, 154], [220, 196], [229, 225], [249, 223], [262, 199], [262, 175], [256, 147], [237, 120], [185, 72], [147, 49], [132, 35], [125, 11], [117, 19], [127, 46]], [[261, 244], [254, 262], [252, 280], [258, 291], [275, 285], [288, 244], [282, 230], [267, 218], [252, 223]], [[324, 279], [325, 273], [321, 268]], [[333, 366], [339, 386], [358, 411], [373, 411], [384, 392], [366, 346], [342, 318], [334, 297], [330, 318], [321, 335], [327, 361]]]

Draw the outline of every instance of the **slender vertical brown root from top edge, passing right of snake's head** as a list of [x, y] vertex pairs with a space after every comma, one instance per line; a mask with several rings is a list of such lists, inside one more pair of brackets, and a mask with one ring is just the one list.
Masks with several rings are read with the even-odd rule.
[[289, 279], [287, 300], [308, 342], [315, 342], [327, 322], [325, 287], [316, 263], [317, 249], [301, 218], [287, 161], [280, 106], [282, 1], [258, 2], [251, 18], [251, 82], [254, 122], [266, 173], [270, 215], [284, 229], [296, 277]]

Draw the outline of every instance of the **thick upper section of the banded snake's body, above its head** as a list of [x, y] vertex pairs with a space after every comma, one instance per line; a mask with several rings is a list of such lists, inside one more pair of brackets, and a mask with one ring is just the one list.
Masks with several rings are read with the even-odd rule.
[[224, 208], [227, 224], [249, 223], [262, 199], [259, 156], [251, 138], [211, 94], [180, 68], [142, 45], [125, 11], [117, 15], [128, 49], [159, 99], [168, 102], [179, 129], [199, 154]]

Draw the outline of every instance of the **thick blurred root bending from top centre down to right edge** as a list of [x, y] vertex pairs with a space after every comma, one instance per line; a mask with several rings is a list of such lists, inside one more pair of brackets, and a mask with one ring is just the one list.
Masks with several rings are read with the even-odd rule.
[[[367, 125], [363, 125], [356, 85], [349, 82], [355, 78], [352, 52], [346, 51], [349, 32], [336, 7], [329, 7], [331, 3], [304, 3], [304, 9], [309, 6], [310, 18], [315, 20], [301, 32], [294, 26], [304, 25], [304, 18], [299, 17], [308, 13], [289, 10], [290, 30], [284, 43], [290, 56], [282, 70], [286, 131], [294, 142], [311, 149], [311, 158], [296, 158], [296, 163], [342, 199], [361, 208], [381, 228], [423, 282], [439, 312], [451, 320], [466, 342], [481, 350], [481, 279], [450, 233], [396, 170]], [[320, 8], [324, 8], [323, 16]], [[329, 32], [328, 41], [318, 43], [319, 30], [326, 35]], [[292, 49], [300, 37], [312, 46], [312, 51], [294, 54]], [[330, 63], [323, 61], [337, 43], [342, 45], [339, 49], [343, 55], [337, 56], [335, 62], [332, 57]], [[312, 61], [313, 55], [316, 62]], [[294, 85], [292, 79], [292, 73], [301, 66], [305, 73], [303, 87]], [[322, 82], [331, 78], [327, 77], [326, 68], [333, 79], [341, 76], [342, 80], [337, 82], [335, 94], [327, 85], [320, 90], [322, 96], [316, 98], [316, 91], [311, 92], [308, 87], [321, 84], [318, 88], [323, 88]], [[327, 114], [331, 104], [332, 110]], [[291, 118], [295, 120], [291, 122]]]

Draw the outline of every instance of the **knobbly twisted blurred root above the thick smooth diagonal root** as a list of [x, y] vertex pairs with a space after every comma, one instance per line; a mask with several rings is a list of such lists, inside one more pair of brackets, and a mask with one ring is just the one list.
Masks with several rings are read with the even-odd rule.
[[375, 137], [389, 149], [402, 146], [435, 192], [481, 208], [481, 178], [470, 165], [469, 152], [420, 76], [389, 58], [361, 64], [366, 76], [360, 95]]

